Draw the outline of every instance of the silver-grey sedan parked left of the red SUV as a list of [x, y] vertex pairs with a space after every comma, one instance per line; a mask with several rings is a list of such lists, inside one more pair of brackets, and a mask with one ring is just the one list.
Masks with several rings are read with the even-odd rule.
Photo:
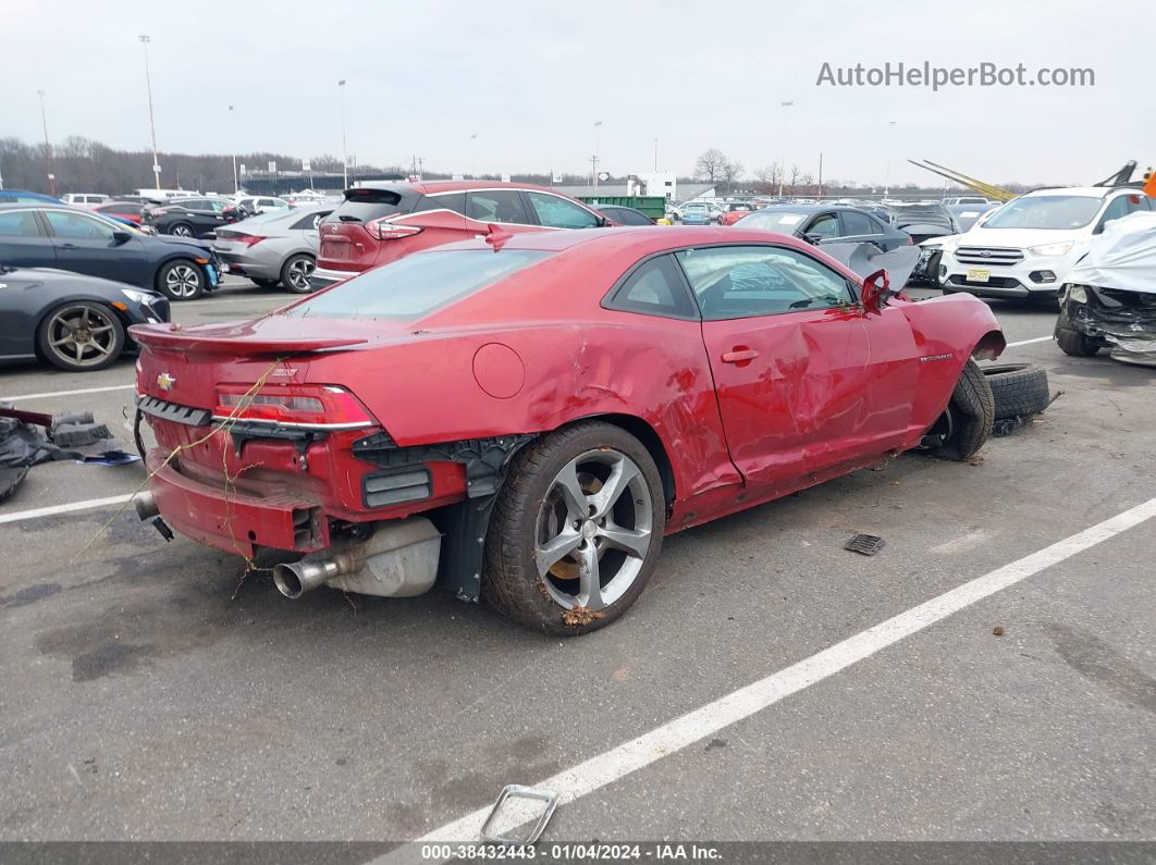
[[306, 294], [320, 243], [317, 225], [332, 211], [332, 204], [321, 204], [258, 214], [217, 230], [213, 249], [232, 274]]

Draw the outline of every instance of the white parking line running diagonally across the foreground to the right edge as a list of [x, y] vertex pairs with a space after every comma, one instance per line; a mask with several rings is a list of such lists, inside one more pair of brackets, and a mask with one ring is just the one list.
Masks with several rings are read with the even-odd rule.
[[[580, 799], [583, 796], [614, 783], [653, 762], [669, 756], [682, 748], [702, 741], [718, 733], [724, 728], [777, 703], [791, 694], [810, 687], [837, 672], [875, 655], [906, 636], [911, 636], [948, 616], [994, 595], [1002, 589], [1015, 586], [1040, 571], [1065, 559], [1083, 552], [1096, 544], [1107, 540], [1146, 520], [1156, 516], [1156, 499], [1136, 505], [1102, 523], [1084, 529], [1070, 537], [1058, 540], [1038, 552], [1017, 559], [1009, 565], [996, 568], [988, 574], [946, 591], [906, 612], [888, 619], [872, 628], [867, 628], [843, 642], [836, 643], [805, 661], [768, 676], [726, 696], [695, 709], [682, 717], [675, 718], [651, 730], [637, 739], [618, 745], [586, 762], [565, 769], [546, 778], [535, 786], [558, 792], [558, 804]], [[479, 829], [489, 814], [490, 808], [479, 808], [472, 814], [454, 820], [425, 834], [413, 844], [391, 851], [378, 863], [421, 862], [422, 843], [464, 842], [477, 838]], [[507, 819], [492, 828], [498, 833], [509, 833], [512, 828], [536, 819], [539, 806], [533, 806], [525, 799], [512, 799], [503, 806]]]

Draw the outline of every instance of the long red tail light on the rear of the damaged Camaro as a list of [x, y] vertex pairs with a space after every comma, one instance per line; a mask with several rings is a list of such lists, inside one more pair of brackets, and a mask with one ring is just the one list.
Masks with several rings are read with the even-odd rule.
[[361, 401], [334, 385], [218, 385], [216, 420], [251, 420], [307, 430], [380, 426]]

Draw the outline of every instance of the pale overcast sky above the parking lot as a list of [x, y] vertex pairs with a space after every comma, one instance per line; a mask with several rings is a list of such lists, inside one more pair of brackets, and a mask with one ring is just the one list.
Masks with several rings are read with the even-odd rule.
[[[162, 150], [341, 154], [378, 165], [687, 174], [748, 169], [925, 181], [928, 158], [993, 182], [1156, 163], [1151, 5], [696, 0], [280, 0], [3, 5], [0, 136], [147, 149], [149, 33]], [[817, 87], [833, 67], [1091, 67], [1095, 87]], [[793, 100], [787, 109], [780, 106]], [[228, 106], [236, 106], [230, 115]], [[892, 126], [894, 121], [894, 126]], [[476, 140], [470, 136], [476, 134]]]

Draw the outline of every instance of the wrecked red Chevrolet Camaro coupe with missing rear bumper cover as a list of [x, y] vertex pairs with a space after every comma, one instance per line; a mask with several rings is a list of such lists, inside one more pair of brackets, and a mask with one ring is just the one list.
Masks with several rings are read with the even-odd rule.
[[912, 303], [721, 228], [491, 233], [132, 335], [142, 519], [276, 553], [289, 597], [439, 582], [560, 634], [629, 607], [664, 535], [911, 448], [971, 456], [994, 413], [972, 358], [1005, 345], [970, 294]]

